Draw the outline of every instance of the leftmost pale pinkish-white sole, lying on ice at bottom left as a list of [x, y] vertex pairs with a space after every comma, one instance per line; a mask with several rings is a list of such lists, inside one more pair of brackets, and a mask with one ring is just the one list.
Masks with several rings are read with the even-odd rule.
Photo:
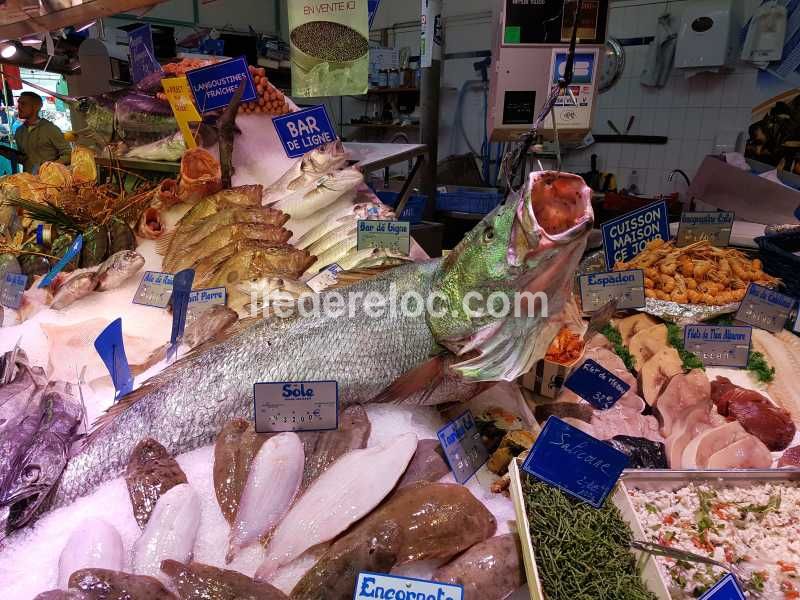
[[78, 569], [125, 569], [125, 548], [113, 525], [90, 517], [72, 532], [58, 559], [58, 587], [67, 589], [69, 576]]

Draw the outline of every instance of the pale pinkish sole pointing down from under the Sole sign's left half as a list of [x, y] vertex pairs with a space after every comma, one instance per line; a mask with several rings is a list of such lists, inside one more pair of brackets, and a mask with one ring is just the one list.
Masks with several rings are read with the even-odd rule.
[[296, 433], [281, 433], [261, 447], [242, 491], [226, 562], [272, 532], [300, 489], [304, 464], [303, 442]]

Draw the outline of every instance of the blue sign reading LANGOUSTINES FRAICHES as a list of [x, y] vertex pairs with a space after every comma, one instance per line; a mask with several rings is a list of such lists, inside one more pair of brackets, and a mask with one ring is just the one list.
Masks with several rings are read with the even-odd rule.
[[242, 102], [256, 99], [256, 86], [247, 68], [245, 57], [232, 58], [186, 73], [194, 101], [201, 113], [225, 108], [245, 81]]

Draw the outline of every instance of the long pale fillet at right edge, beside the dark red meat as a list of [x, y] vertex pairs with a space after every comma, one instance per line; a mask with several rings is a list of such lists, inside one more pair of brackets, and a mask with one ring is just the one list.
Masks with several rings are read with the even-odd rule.
[[[786, 332], [786, 339], [789, 337], [793, 336]], [[795, 425], [800, 426], [800, 387], [797, 386], [800, 378], [800, 352], [794, 350], [794, 341], [784, 342], [782, 333], [774, 336], [762, 329], [753, 328], [753, 347], [764, 354], [769, 365], [775, 368], [775, 379], [767, 388], [770, 397], [792, 415]]]

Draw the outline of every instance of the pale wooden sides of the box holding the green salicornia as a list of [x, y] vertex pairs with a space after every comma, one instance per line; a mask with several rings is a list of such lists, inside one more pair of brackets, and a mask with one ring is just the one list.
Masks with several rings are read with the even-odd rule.
[[[519, 459], [511, 461], [509, 473], [511, 474], [511, 500], [514, 503], [514, 512], [517, 516], [517, 530], [522, 544], [522, 556], [525, 562], [528, 591], [530, 592], [532, 600], [547, 600], [539, 578], [539, 570], [536, 565], [536, 553], [533, 549], [528, 515], [525, 511], [525, 499], [522, 493], [521, 480], [521, 476], [523, 475], [522, 461]], [[628, 496], [624, 484], [616, 487], [614, 493], [609, 496], [608, 501], [613, 502], [617, 506], [623, 519], [633, 531], [633, 537], [639, 540], [644, 539], [644, 530], [636, 517], [633, 503]], [[667, 582], [662, 577], [654, 557], [645, 556], [638, 550], [631, 550], [631, 552], [636, 557], [637, 564], [643, 565], [641, 572], [642, 580], [650, 591], [653, 592], [659, 600], [670, 600]]]

